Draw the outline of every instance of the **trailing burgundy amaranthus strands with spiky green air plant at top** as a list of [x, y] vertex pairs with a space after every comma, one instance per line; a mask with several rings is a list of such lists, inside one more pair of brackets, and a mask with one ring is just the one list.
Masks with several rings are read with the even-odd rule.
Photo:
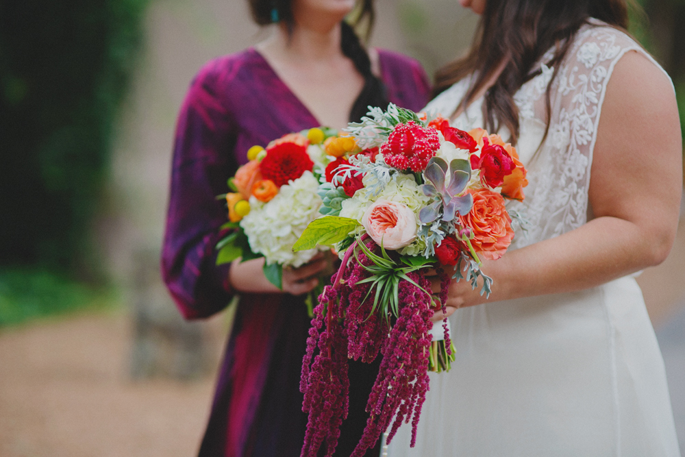
[[[373, 253], [378, 250], [383, 257]], [[390, 262], [385, 269], [378, 264], [381, 260]], [[390, 441], [403, 421], [412, 421], [414, 445], [428, 391], [429, 331], [435, 304], [430, 282], [421, 271], [425, 266], [395, 264], [372, 240], [358, 238], [347, 249], [332, 284], [314, 308], [300, 384], [303, 411], [309, 414], [301, 456], [316, 456], [324, 442], [325, 455], [332, 456], [340, 423], [347, 418], [347, 360], [370, 363], [379, 352], [383, 360], [366, 404], [369, 419], [352, 456], [362, 456], [392, 425]], [[441, 269], [438, 275], [444, 311], [449, 275]], [[382, 308], [382, 303], [390, 306]], [[449, 334], [443, 326], [449, 354]]]

